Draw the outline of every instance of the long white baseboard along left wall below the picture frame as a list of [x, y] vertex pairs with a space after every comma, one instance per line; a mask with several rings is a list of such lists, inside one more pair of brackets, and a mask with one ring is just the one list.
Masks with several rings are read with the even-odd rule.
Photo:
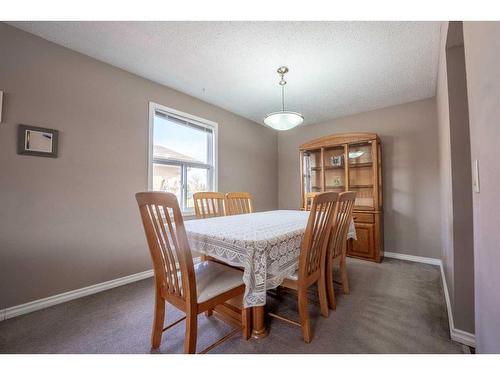
[[71, 301], [77, 298], [85, 297], [90, 294], [95, 294], [108, 289], [116, 288], [118, 286], [122, 286], [125, 284], [133, 283], [135, 281], [147, 279], [148, 277], [152, 276], [153, 276], [153, 270], [148, 270], [125, 277], [120, 277], [118, 279], [105, 281], [103, 283], [87, 286], [85, 288], [71, 290], [69, 292], [61, 294], [56, 294], [55, 296], [38, 299], [36, 301], [24, 303], [22, 305], [8, 307], [6, 309], [0, 310], [0, 321], [23, 314], [28, 314], [36, 310], [45, 309], [47, 307], [58, 305], [60, 303]]

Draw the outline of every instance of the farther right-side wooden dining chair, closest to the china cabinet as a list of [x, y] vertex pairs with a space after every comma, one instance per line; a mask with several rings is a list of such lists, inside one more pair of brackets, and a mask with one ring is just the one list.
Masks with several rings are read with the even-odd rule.
[[344, 294], [349, 294], [349, 281], [347, 278], [347, 234], [352, 220], [352, 211], [356, 192], [347, 191], [339, 194], [337, 212], [333, 222], [333, 229], [330, 233], [326, 255], [326, 288], [328, 292], [328, 306], [335, 310], [335, 290], [333, 288], [333, 268], [338, 261], [340, 279], [342, 280], [342, 290]]

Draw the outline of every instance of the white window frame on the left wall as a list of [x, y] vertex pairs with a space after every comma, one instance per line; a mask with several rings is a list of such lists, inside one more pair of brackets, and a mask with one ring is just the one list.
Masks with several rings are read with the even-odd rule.
[[[210, 121], [198, 116], [191, 115], [189, 113], [181, 112], [173, 108], [166, 107], [164, 105], [155, 103], [155, 102], [149, 102], [149, 145], [148, 145], [148, 190], [153, 190], [153, 142], [154, 142], [154, 118], [155, 118], [155, 113], [156, 112], [162, 112], [165, 115], [172, 116], [172, 117], [177, 117], [180, 120], [188, 121], [194, 125], [201, 126], [207, 129], [210, 129], [212, 131], [212, 137], [213, 137], [213, 148], [212, 148], [212, 160], [213, 160], [213, 174], [210, 176], [210, 172], [208, 173], [208, 179], [209, 183], [210, 180], [212, 180], [212, 189], [213, 191], [218, 191], [218, 185], [219, 185], [219, 177], [218, 177], [218, 141], [219, 141], [219, 124]], [[185, 163], [179, 160], [171, 159], [172, 165], [178, 164], [189, 164]], [[196, 163], [193, 163], [193, 166], [196, 167]], [[183, 171], [184, 168], [182, 168], [181, 171]], [[182, 181], [186, 180], [186, 176], [184, 176], [184, 172], [182, 172]], [[185, 184], [185, 183], [184, 183]], [[186, 187], [182, 186], [182, 189], [185, 190]], [[181, 197], [184, 196], [184, 192], [181, 193]], [[184, 204], [182, 202], [179, 202], [179, 206], [181, 207], [183, 215], [194, 215], [194, 210], [184, 210]]]

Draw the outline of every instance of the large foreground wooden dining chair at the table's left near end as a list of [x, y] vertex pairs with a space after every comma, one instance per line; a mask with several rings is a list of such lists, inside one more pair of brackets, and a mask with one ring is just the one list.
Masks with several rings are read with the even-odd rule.
[[[184, 352], [195, 353], [198, 314], [244, 293], [243, 273], [211, 261], [193, 265], [182, 214], [174, 194], [142, 192], [137, 193], [135, 197], [139, 204], [155, 276], [155, 313], [151, 346], [157, 349], [162, 333], [186, 320]], [[185, 316], [164, 328], [166, 302], [183, 311]], [[201, 353], [206, 353], [240, 329], [243, 330], [243, 337], [248, 339], [249, 319], [248, 309], [243, 308], [242, 327], [232, 330]]]

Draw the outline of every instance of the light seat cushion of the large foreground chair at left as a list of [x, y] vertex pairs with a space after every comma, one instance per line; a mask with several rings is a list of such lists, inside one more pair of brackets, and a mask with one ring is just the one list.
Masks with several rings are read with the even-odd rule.
[[198, 303], [243, 285], [243, 272], [211, 261], [194, 266]]

